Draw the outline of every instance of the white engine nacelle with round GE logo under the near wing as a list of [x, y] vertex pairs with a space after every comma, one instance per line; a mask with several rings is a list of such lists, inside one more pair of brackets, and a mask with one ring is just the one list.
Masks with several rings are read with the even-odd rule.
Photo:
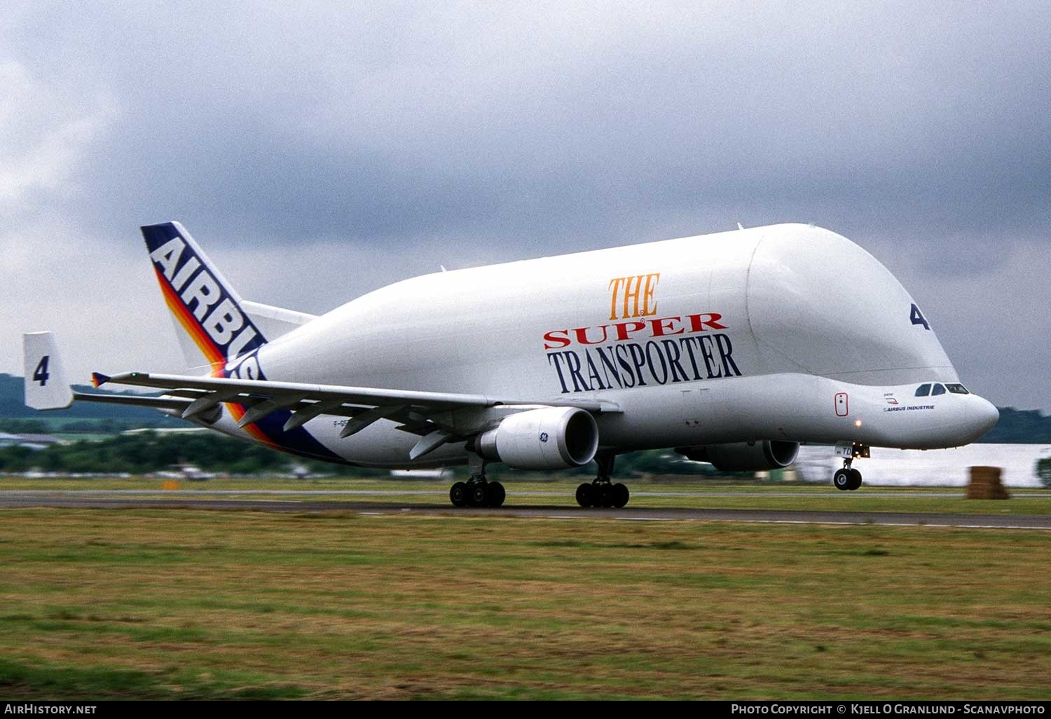
[[514, 469], [580, 467], [598, 451], [598, 425], [576, 407], [527, 410], [479, 435], [475, 450]]

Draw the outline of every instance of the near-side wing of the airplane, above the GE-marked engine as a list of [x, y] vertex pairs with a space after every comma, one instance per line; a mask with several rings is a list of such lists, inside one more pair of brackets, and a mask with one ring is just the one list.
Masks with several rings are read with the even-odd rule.
[[[516, 406], [522, 409], [536, 406], [577, 407], [596, 414], [621, 411], [616, 403], [583, 398], [515, 399], [481, 394], [148, 372], [125, 372], [112, 376], [96, 372], [91, 378], [96, 387], [112, 383], [165, 390], [168, 397], [164, 400], [178, 403], [171, 406], [181, 409], [185, 419], [207, 416], [205, 413], [221, 404], [233, 404], [244, 408], [244, 414], [238, 420], [241, 427], [259, 422], [277, 410], [291, 412], [284, 427], [288, 431], [321, 414], [330, 414], [349, 417], [341, 437], [360, 432], [379, 419], [391, 419], [400, 423], [397, 429], [421, 437], [410, 453], [411, 458], [427, 454], [448, 441], [477, 434], [492, 420], [493, 415], [487, 412], [492, 408], [504, 407], [514, 411]], [[119, 400], [110, 398], [108, 402]]]

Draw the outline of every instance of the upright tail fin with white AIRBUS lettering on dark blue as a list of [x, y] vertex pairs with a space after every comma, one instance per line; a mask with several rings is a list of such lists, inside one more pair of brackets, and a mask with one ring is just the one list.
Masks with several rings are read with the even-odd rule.
[[182, 225], [146, 225], [142, 235], [190, 367], [221, 368], [266, 344], [241, 295]]

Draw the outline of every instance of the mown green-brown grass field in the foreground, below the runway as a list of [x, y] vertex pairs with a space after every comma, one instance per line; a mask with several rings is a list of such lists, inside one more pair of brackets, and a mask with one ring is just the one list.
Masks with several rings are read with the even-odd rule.
[[4, 510], [0, 694], [1049, 699], [1049, 562], [1025, 531]]

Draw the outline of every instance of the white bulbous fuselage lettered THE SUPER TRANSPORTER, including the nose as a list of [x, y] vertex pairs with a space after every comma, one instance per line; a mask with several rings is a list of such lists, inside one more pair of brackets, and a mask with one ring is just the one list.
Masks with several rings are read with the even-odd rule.
[[[912, 297], [849, 240], [777, 225], [413, 278], [264, 346], [269, 379], [465, 392], [542, 404], [607, 399], [602, 447], [763, 439], [935, 448], [996, 420], [959, 384]], [[328, 425], [332, 425], [329, 427]], [[380, 422], [351, 461], [390, 466], [418, 438]], [[463, 461], [449, 445], [419, 463]]]

